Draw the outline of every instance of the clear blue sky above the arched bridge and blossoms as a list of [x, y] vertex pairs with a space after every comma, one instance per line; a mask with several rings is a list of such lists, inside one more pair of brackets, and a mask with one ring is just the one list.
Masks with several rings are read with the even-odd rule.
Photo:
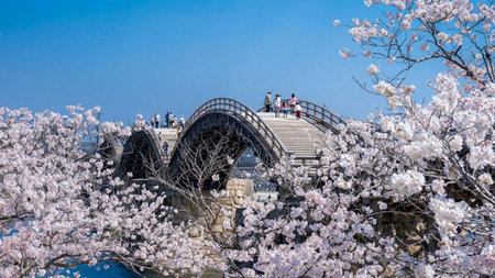
[[127, 124], [138, 113], [188, 116], [215, 97], [258, 108], [271, 90], [363, 119], [385, 102], [353, 82], [369, 80], [372, 62], [338, 55], [354, 44], [332, 21], [380, 13], [362, 0], [0, 0], [0, 105], [100, 105]]

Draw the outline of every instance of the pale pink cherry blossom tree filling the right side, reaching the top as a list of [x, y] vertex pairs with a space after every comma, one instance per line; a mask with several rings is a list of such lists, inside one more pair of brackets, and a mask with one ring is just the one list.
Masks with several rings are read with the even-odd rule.
[[[363, 55], [404, 65], [367, 68], [388, 101], [367, 121], [328, 134], [317, 177], [284, 158], [271, 170], [285, 194], [251, 202], [221, 255], [255, 277], [480, 277], [495, 270], [495, 85], [492, 1], [367, 0], [384, 19], [354, 19]], [[341, 24], [339, 20], [336, 25]], [[419, 46], [415, 49], [415, 46]], [[344, 58], [355, 54], [340, 52]], [[425, 105], [407, 70], [447, 71]]]

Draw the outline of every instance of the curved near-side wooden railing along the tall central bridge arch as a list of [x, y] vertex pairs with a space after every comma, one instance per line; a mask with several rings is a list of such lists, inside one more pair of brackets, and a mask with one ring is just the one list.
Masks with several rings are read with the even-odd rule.
[[244, 103], [231, 98], [215, 98], [205, 102], [202, 105], [196, 109], [196, 111], [187, 120], [179, 138], [177, 138], [177, 142], [182, 140], [182, 136], [186, 133], [189, 126], [196, 122], [197, 119], [199, 119], [202, 114], [212, 111], [229, 111], [243, 116], [260, 132], [260, 134], [263, 135], [263, 137], [267, 141], [270, 146], [277, 153], [279, 157], [286, 154], [287, 151], [282, 144], [282, 141], [275, 135], [268, 124], [266, 124], [266, 122], [263, 121], [263, 119], [257, 115], [254, 110], [252, 110]]

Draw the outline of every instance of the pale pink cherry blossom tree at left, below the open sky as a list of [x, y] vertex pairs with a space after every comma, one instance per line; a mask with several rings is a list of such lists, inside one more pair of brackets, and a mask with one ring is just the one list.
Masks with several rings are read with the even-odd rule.
[[0, 109], [1, 276], [68, 275], [108, 260], [135, 271], [200, 274], [201, 235], [188, 238], [185, 223], [172, 223], [164, 194], [125, 185], [113, 160], [99, 155], [106, 136], [131, 130], [100, 123], [99, 108], [68, 110]]

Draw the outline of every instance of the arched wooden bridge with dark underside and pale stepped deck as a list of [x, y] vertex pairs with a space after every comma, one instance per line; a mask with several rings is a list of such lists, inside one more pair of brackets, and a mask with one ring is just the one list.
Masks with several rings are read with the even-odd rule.
[[[193, 113], [179, 135], [174, 129], [133, 132], [118, 159], [119, 171], [132, 173], [139, 179], [146, 178], [153, 167], [161, 175], [179, 178], [188, 176], [195, 167], [197, 171], [218, 167], [220, 178], [226, 179], [234, 165], [232, 160], [237, 162], [248, 147], [267, 166], [284, 155], [294, 155], [296, 165], [314, 163], [323, 146], [324, 133], [337, 132], [337, 125], [344, 121], [324, 107], [299, 102], [301, 120], [292, 114], [284, 118], [283, 113], [276, 118], [273, 112], [252, 110], [234, 99], [209, 100]], [[163, 142], [168, 143], [168, 156]], [[210, 154], [206, 147], [218, 148], [216, 155], [222, 158], [217, 158], [216, 165], [208, 164]]]

